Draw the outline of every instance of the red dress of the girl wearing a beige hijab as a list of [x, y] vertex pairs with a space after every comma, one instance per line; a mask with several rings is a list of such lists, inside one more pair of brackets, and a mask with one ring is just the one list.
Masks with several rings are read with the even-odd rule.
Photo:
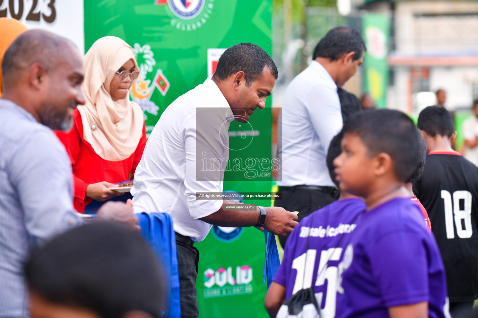
[[146, 145], [146, 126], [143, 124], [143, 133], [134, 153], [121, 161], [109, 161], [96, 154], [83, 139], [83, 122], [77, 109], [73, 112], [73, 119], [75, 123], [68, 133], [55, 133], [70, 156], [75, 189], [73, 205], [76, 211], [83, 213], [85, 206], [91, 203], [91, 198], [86, 196], [88, 185], [101, 181], [117, 183], [134, 177]]

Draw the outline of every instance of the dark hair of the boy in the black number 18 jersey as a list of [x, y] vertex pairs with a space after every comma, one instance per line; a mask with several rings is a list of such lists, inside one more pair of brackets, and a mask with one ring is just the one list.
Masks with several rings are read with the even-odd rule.
[[435, 137], [451, 137], [455, 132], [455, 124], [451, 113], [441, 106], [428, 106], [418, 115], [418, 129]]

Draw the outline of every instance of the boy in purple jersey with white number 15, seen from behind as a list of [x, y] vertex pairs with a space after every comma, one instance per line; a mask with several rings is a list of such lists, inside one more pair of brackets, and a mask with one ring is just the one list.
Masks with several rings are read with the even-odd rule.
[[[341, 152], [341, 140], [342, 133], [338, 133], [330, 142], [326, 157], [329, 174], [334, 182], [336, 174], [332, 162]], [[338, 186], [337, 182], [336, 184]], [[323, 317], [335, 316], [339, 258], [348, 245], [348, 237], [356, 230], [357, 217], [365, 208], [363, 200], [342, 191], [338, 201], [301, 220], [287, 240], [282, 264], [264, 300], [271, 317], [276, 316], [284, 300], [303, 287], [311, 286], [314, 286]], [[309, 248], [305, 266], [307, 237]], [[307, 268], [305, 279], [304, 268]]]

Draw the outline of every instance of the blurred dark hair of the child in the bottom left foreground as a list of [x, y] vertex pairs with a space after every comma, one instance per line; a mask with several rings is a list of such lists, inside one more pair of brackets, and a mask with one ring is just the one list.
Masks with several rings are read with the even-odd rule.
[[164, 309], [156, 256], [140, 234], [120, 224], [93, 222], [57, 236], [33, 251], [24, 271], [40, 297], [101, 318], [132, 310], [159, 318]]

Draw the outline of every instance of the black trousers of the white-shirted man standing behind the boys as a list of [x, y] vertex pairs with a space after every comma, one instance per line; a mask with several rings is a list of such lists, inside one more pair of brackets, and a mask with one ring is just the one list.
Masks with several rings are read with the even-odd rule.
[[[319, 190], [296, 189], [293, 191], [282, 192], [282, 200], [275, 200], [275, 206], [280, 206], [287, 211], [299, 211], [298, 220], [300, 222], [305, 216], [312, 212], [331, 204], [336, 198], [328, 193]], [[285, 247], [287, 236], [279, 236], [282, 248]]]

